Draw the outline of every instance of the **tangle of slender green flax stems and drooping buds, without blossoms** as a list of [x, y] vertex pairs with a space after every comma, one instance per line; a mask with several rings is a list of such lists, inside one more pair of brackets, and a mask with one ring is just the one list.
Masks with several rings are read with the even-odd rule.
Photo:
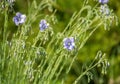
[[[73, 77], [72, 81], [68, 82], [75, 61], [80, 58], [80, 51], [84, 49], [85, 43], [98, 28], [109, 30], [111, 23], [117, 25], [117, 16], [108, 5], [104, 5], [109, 10], [109, 14], [106, 14], [100, 11], [99, 4], [91, 6], [89, 1], [85, 0], [81, 3], [80, 10], [72, 14], [68, 23], [65, 21], [66, 27], [61, 28], [64, 26], [58, 26], [61, 25], [59, 18], [62, 18], [59, 17], [59, 13], [64, 13], [66, 10], [64, 7], [61, 9], [57, 3], [62, 2], [28, 0], [25, 23], [17, 26], [16, 31], [9, 33], [11, 31], [9, 25], [12, 21], [9, 20], [9, 16], [12, 11], [15, 12], [14, 5], [6, 0], [1, 1], [0, 6], [4, 4], [3, 8], [0, 8], [1, 18], [4, 21], [3, 25], [0, 25], [3, 30], [3, 33], [0, 33], [2, 36], [0, 38], [1, 84], [78, 84], [83, 82], [82, 78], [86, 80], [85, 76], [88, 82], [94, 80], [96, 75], [94, 69], [99, 68], [100, 74], [107, 73], [109, 62], [105, 54], [98, 51], [92, 62], [91, 59], [88, 63], [84, 63], [83, 60], [79, 66], [81, 70], [78, 68], [77, 77]], [[43, 32], [39, 29], [41, 19], [49, 23], [49, 27]], [[67, 37], [75, 39], [75, 48], [71, 51], [64, 49], [63, 39]]]

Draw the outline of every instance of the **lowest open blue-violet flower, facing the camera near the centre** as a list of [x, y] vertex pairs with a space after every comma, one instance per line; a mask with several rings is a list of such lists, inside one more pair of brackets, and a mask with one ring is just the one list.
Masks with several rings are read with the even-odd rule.
[[72, 50], [75, 47], [75, 42], [73, 37], [64, 38], [63, 45], [65, 49]]

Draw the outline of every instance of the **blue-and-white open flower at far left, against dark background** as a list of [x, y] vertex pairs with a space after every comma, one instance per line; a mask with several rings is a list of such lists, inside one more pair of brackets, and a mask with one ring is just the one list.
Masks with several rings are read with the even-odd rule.
[[23, 24], [26, 20], [26, 15], [21, 14], [21, 13], [16, 13], [16, 16], [13, 17], [14, 23], [18, 26], [20, 24]]

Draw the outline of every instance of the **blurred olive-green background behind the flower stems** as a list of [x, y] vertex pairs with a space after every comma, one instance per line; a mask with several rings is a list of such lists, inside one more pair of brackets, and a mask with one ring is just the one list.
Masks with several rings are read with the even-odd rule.
[[[16, 31], [17, 27], [12, 22], [12, 18], [15, 12], [21, 12], [27, 15], [28, 13], [28, 2], [32, 0], [16, 0], [13, 6], [14, 12], [10, 12], [9, 15], [9, 35], [12, 35]], [[40, 0], [37, 0], [39, 3]], [[55, 32], [63, 31], [64, 27], [67, 25], [71, 15], [75, 11], [79, 11], [83, 0], [56, 0], [57, 9], [56, 17], [58, 23], [53, 26]], [[94, 6], [96, 3], [93, 0], [89, 0], [89, 4]], [[120, 18], [120, 0], [110, 0], [108, 3], [109, 7], [113, 9], [114, 13]], [[43, 11], [48, 14], [46, 10]], [[2, 34], [3, 19], [2, 14], [0, 14], [0, 33]], [[2, 38], [2, 36], [0, 36]], [[9, 36], [11, 39], [11, 36]], [[101, 50], [106, 53], [107, 58], [110, 62], [107, 75], [100, 75], [100, 71], [95, 69], [93, 72], [95, 76], [94, 80], [90, 84], [120, 84], [120, 23], [118, 26], [111, 26], [110, 30], [104, 30], [104, 28], [99, 28], [87, 41], [85, 46], [79, 52], [79, 56], [76, 59], [70, 75], [68, 77], [70, 84], [76, 77], [79, 76], [81, 65], [86, 65], [90, 60], [92, 60], [97, 51]], [[87, 83], [87, 78], [84, 77], [80, 84]]]

